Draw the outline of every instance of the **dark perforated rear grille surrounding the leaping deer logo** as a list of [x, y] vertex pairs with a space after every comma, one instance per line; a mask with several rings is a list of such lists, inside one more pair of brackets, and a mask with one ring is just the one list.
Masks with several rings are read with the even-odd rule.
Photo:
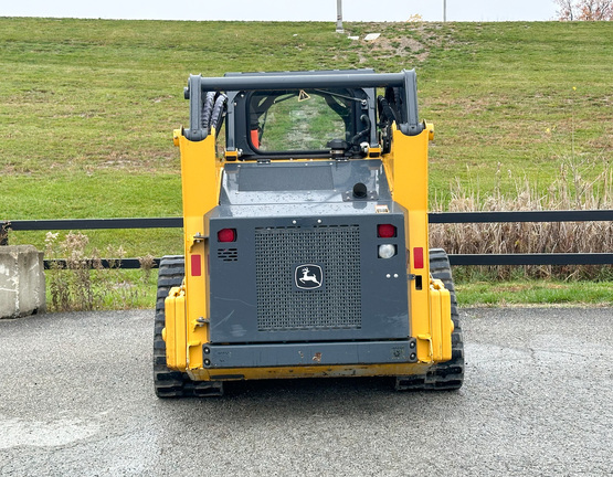
[[[255, 261], [260, 331], [361, 327], [359, 225], [256, 229]], [[320, 289], [294, 285], [300, 264], [321, 267]]]

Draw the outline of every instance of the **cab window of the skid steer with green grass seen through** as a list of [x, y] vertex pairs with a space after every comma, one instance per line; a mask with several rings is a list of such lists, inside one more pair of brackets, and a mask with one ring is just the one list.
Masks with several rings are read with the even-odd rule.
[[250, 140], [262, 152], [318, 151], [355, 134], [347, 89], [286, 89], [251, 96]]

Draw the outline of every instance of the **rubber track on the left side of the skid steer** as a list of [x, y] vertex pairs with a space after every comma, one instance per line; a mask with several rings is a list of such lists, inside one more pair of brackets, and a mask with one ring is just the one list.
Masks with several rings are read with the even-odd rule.
[[166, 342], [161, 337], [165, 327], [163, 300], [170, 288], [180, 286], [186, 275], [182, 255], [165, 256], [160, 261], [156, 320], [154, 331], [154, 386], [158, 398], [219, 396], [223, 395], [222, 382], [192, 381], [187, 373], [171, 371], [166, 365]]

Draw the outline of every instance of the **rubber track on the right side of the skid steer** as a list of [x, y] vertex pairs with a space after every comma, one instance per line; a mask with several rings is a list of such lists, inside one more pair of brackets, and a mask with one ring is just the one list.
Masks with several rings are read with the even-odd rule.
[[434, 364], [426, 374], [398, 377], [395, 389], [408, 390], [457, 390], [464, 382], [464, 340], [457, 314], [457, 300], [453, 285], [450, 259], [443, 248], [430, 250], [430, 273], [433, 278], [438, 278], [450, 290], [452, 299], [452, 320], [454, 331], [452, 333], [452, 359], [450, 361]]

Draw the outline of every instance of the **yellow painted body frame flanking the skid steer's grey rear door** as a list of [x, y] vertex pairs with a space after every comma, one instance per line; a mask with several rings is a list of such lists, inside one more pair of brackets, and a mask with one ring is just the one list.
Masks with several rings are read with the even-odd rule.
[[[214, 130], [204, 140], [190, 141], [182, 129], [177, 129], [173, 139], [181, 152], [186, 278], [181, 287], [170, 290], [165, 304], [166, 328], [162, 337], [166, 340], [168, 368], [187, 372], [193, 380], [205, 381], [222, 379], [222, 375], [242, 375], [244, 379], [411, 375], [424, 373], [430, 365], [452, 358], [451, 336], [454, 325], [451, 318], [450, 292], [441, 280], [433, 279], [429, 274], [427, 146], [434, 130], [427, 124], [421, 134], [406, 136], [394, 124], [392, 135], [389, 153], [380, 156], [380, 150], [371, 150], [367, 157], [381, 158], [392, 199], [408, 211], [405, 245], [412, 257], [408, 263], [408, 274], [426, 275], [421, 289], [416, 288], [416, 280], [408, 282], [410, 329], [416, 338], [418, 362], [205, 369], [202, 347], [209, 342], [209, 273], [205, 259], [209, 231], [203, 218], [219, 203], [222, 171], [229, 156], [216, 158]], [[398, 158], [410, 160], [397, 160]], [[230, 159], [235, 160], [235, 157]], [[416, 250], [423, 253], [419, 268], [413, 259], [413, 252]], [[199, 266], [203, 272], [193, 276], [192, 266]]]

